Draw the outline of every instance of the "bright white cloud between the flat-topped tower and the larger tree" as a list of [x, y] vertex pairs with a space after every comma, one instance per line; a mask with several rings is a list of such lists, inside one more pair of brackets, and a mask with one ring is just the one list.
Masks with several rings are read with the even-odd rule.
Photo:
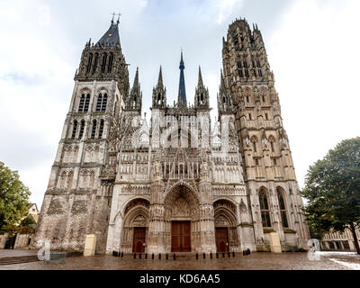
[[360, 135], [360, 2], [296, 1], [268, 41], [298, 180], [329, 148]]

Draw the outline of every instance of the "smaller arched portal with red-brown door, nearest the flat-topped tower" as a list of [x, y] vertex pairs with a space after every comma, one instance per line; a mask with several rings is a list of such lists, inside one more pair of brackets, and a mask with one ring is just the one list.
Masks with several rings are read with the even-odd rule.
[[236, 206], [227, 200], [214, 202], [215, 240], [217, 252], [237, 250], [238, 231]]

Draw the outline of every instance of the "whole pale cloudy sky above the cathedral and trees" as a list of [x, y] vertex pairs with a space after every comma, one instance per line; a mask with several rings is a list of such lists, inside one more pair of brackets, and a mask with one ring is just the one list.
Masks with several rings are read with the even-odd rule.
[[148, 111], [162, 65], [177, 99], [180, 49], [193, 103], [198, 66], [216, 108], [222, 37], [237, 17], [257, 23], [275, 72], [301, 187], [308, 167], [360, 135], [358, 0], [0, 0], [0, 161], [18, 170], [40, 208], [85, 42], [121, 12], [121, 47]]

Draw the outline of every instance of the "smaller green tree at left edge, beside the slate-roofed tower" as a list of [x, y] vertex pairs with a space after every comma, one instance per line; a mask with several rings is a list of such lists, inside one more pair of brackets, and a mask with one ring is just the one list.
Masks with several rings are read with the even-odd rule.
[[29, 188], [20, 181], [19, 174], [0, 167], [0, 232], [14, 234], [28, 212], [29, 196]]

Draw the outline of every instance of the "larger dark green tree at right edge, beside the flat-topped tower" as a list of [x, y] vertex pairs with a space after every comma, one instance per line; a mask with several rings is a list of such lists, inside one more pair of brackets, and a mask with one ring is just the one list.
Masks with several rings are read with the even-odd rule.
[[311, 166], [302, 195], [309, 201], [304, 211], [315, 237], [350, 229], [360, 254], [360, 137], [343, 140]]

